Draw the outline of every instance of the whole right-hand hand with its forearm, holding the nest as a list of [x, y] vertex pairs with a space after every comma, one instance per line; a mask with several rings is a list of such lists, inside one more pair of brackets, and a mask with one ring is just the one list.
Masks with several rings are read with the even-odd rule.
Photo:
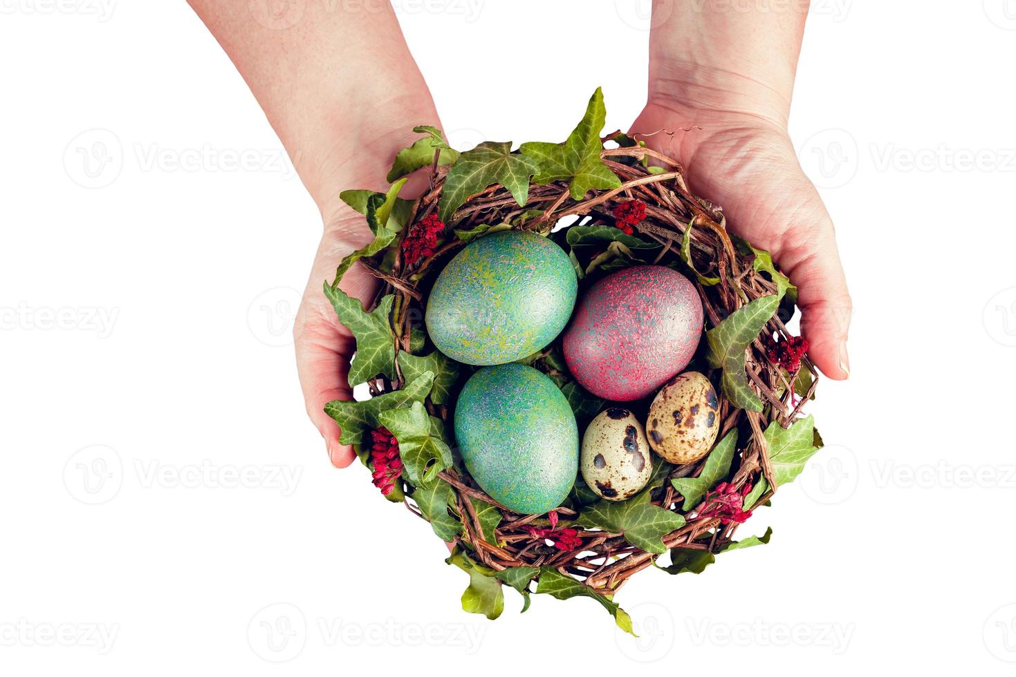
[[725, 0], [656, 0], [649, 96], [632, 127], [677, 158], [691, 190], [731, 229], [768, 250], [798, 286], [808, 354], [831, 379], [849, 371], [850, 294], [832, 219], [786, 132], [808, 3], [763, 11]]

